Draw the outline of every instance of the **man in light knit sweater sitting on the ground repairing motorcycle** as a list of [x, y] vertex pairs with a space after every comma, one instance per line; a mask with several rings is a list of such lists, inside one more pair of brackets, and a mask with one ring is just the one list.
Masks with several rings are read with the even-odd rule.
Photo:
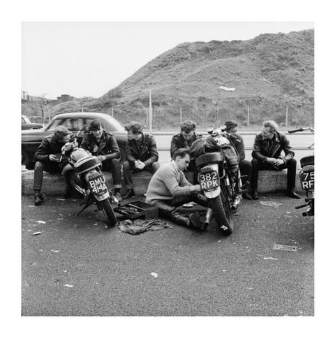
[[158, 207], [162, 217], [167, 217], [181, 226], [202, 231], [206, 229], [197, 213], [192, 213], [188, 218], [176, 209], [191, 201], [208, 207], [206, 197], [199, 193], [200, 185], [192, 185], [185, 178], [183, 171], [187, 169], [190, 160], [188, 150], [176, 150], [172, 161], [162, 165], [152, 176], [146, 202]]

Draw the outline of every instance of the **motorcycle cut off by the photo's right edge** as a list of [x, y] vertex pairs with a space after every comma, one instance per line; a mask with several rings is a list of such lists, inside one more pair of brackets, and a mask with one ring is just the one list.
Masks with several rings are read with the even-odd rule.
[[[295, 132], [301, 131], [311, 131], [314, 134], [314, 129], [311, 127], [301, 127], [300, 129], [289, 130], [289, 134], [294, 134]], [[311, 149], [314, 144], [308, 146]], [[299, 172], [299, 179], [301, 184], [301, 189], [306, 193], [305, 202], [301, 206], [297, 206], [296, 209], [308, 206], [307, 210], [302, 213], [304, 217], [314, 215], [314, 155], [302, 157], [300, 159], [301, 171]]]

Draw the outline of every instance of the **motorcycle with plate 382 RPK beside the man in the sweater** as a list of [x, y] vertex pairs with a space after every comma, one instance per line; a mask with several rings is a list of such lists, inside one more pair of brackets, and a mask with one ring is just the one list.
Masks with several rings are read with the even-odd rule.
[[[209, 224], [214, 216], [222, 233], [230, 235], [234, 230], [234, 210], [241, 205], [241, 193], [246, 189], [241, 185], [238, 153], [230, 141], [234, 135], [225, 132], [225, 128], [207, 129], [209, 136], [195, 141], [190, 152], [195, 157], [200, 188], [211, 208], [205, 223]], [[198, 150], [201, 143], [206, 144], [202, 154]]]

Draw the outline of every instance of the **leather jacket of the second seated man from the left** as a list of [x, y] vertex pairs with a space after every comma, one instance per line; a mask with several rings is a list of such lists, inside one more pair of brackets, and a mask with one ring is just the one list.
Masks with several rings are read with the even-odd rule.
[[[84, 134], [84, 138], [82, 139], [82, 143], [80, 144], [80, 148], [88, 150], [93, 154], [94, 146], [96, 145], [94, 141], [94, 135], [86, 132]], [[117, 141], [113, 134], [103, 130], [103, 136], [101, 136], [100, 144], [98, 145], [98, 150], [94, 153], [96, 156], [105, 156], [106, 159], [119, 159], [121, 158], [121, 152], [119, 149], [119, 145], [117, 145]]]

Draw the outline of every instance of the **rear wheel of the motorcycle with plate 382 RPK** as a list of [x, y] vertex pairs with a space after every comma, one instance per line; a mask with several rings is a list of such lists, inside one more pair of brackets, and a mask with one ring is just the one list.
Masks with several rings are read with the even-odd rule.
[[221, 191], [216, 198], [211, 199], [210, 203], [218, 228], [224, 235], [232, 234], [234, 230], [234, 215], [232, 214], [232, 208], [230, 208], [228, 195], [223, 194]]

